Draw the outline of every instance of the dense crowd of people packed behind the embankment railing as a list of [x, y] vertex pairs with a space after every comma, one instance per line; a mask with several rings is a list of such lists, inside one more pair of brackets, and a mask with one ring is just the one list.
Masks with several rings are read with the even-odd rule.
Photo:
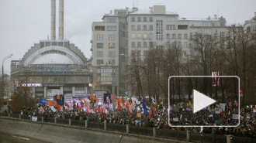
[[[88, 111], [73, 105], [72, 110], [64, 106], [64, 111], [52, 111], [51, 107], [42, 104], [36, 104], [29, 107], [23, 107], [22, 111], [12, 111], [13, 114], [28, 114], [31, 116], [58, 117], [65, 119], [88, 120], [94, 122], [107, 122], [111, 124], [130, 124], [150, 128], [164, 128], [178, 131], [194, 131], [205, 134], [232, 134], [239, 137], [256, 138], [256, 110], [254, 106], [240, 107], [240, 125], [237, 127], [220, 127], [237, 125], [239, 120], [234, 119], [234, 114], [238, 114], [237, 104], [234, 102], [225, 105], [225, 111], [219, 104], [211, 105], [204, 111], [192, 114], [190, 102], [175, 102], [175, 104], [157, 104], [154, 106], [147, 100], [144, 102], [147, 106], [147, 114], [144, 114], [143, 104], [134, 104], [132, 113], [123, 107], [112, 115], [111, 108], [107, 108], [103, 114], [100, 111], [88, 113]], [[92, 105], [93, 107], [93, 105]], [[43, 111], [42, 111], [43, 108]], [[170, 113], [170, 123], [168, 124], [168, 110]], [[221, 110], [221, 112], [220, 112]], [[219, 113], [216, 113], [219, 111]], [[146, 115], [146, 116], [145, 116]], [[216, 127], [173, 127], [175, 125], [198, 125], [198, 126], [216, 126]]]

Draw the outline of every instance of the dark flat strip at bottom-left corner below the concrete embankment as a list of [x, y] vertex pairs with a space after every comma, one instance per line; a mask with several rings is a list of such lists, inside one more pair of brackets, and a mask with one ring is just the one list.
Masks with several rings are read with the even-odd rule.
[[0, 143], [45, 143], [46, 141], [40, 141], [33, 138], [21, 137], [18, 135], [5, 134], [0, 132]]

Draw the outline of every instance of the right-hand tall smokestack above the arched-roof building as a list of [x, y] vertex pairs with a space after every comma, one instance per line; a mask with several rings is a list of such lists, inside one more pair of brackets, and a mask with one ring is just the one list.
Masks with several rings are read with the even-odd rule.
[[64, 0], [59, 0], [59, 39], [64, 39]]

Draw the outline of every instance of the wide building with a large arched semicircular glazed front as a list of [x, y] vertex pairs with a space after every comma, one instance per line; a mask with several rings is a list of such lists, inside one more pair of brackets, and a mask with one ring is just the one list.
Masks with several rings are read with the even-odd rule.
[[89, 94], [88, 64], [81, 50], [68, 40], [41, 40], [22, 60], [12, 60], [12, 93], [18, 87], [29, 87], [31, 95], [45, 99], [56, 94]]

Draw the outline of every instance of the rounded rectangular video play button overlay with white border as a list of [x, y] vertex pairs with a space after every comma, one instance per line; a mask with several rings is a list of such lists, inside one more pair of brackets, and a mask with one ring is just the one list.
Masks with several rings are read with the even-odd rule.
[[235, 76], [169, 77], [170, 126], [229, 126], [240, 121], [240, 80]]

